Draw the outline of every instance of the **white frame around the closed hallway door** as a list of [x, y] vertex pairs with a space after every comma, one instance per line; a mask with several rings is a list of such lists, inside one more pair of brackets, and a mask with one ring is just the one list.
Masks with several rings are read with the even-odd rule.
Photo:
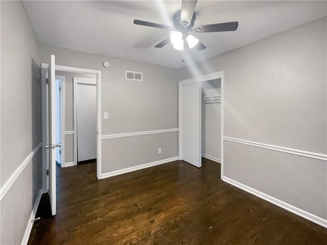
[[73, 84], [73, 97], [74, 97], [74, 165], [77, 165], [77, 99], [76, 99], [76, 86], [77, 84], [89, 84], [89, 85], [97, 85], [97, 80], [91, 78], [82, 78], [82, 77], [74, 77]]

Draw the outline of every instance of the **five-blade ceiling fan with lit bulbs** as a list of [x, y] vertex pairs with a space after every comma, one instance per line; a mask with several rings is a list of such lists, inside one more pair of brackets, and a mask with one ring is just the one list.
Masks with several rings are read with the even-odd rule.
[[[182, 0], [182, 8], [178, 10], [173, 15], [174, 26], [167, 26], [156, 24], [148, 21], [134, 19], [135, 25], [155, 27], [160, 29], [167, 29], [174, 31], [170, 37], [166, 38], [164, 41], [159, 42], [155, 48], [162, 48], [169, 42], [172, 42], [174, 49], [183, 50], [184, 47], [189, 47], [190, 49], [196, 48], [197, 50], [204, 50], [206, 47], [204, 44], [190, 32], [228, 32], [236, 31], [239, 23], [237, 21], [194, 26], [196, 13], [194, 12], [197, 0]], [[187, 45], [186, 45], [187, 43]]]

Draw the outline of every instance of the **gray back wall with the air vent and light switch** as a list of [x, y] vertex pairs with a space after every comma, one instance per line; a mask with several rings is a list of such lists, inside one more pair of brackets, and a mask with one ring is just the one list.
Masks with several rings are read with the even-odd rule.
[[[103, 136], [178, 127], [178, 70], [39, 43], [41, 62], [48, 63], [51, 54], [56, 56], [57, 64], [102, 71]], [[104, 61], [109, 61], [109, 68], [104, 68]], [[126, 70], [142, 72], [143, 81], [126, 80]], [[103, 119], [104, 112], [109, 113], [109, 119]], [[118, 139], [103, 139], [102, 172], [177, 157], [178, 138], [170, 135], [159, 133], [151, 141], [144, 136], [125, 137], [120, 139], [124, 143], [118, 148], [115, 145]], [[143, 156], [141, 162], [135, 159], [134, 149], [130, 148], [135, 139], [142, 146], [138, 152], [138, 156]], [[158, 154], [153, 145], [161, 146], [162, 153]]]

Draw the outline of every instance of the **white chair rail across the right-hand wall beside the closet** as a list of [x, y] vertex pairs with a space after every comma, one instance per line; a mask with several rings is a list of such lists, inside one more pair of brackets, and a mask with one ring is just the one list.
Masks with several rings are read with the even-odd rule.
[[302, 157], [327, 161], [327, 155], [316, 153], [316, 152], [298, 150], [298, 149], [287, 148], [287, 147], [282, 147], [282, 146], [277, 146], [277, 145], [263, 144], [263, 143], [259, 143], [259, 142], [235, 139], [235, 138], [230, 138], [230, 137], [224, 137], [224, 140], [239, 143], [239, 144], [244, 144], [244, 145], [260, 147], [260, 148], [269, 149], [269, 150], [281, 151], [281, 152], [290, 153], [290, 154], [294, 154], [294, 155], [300, 155]]

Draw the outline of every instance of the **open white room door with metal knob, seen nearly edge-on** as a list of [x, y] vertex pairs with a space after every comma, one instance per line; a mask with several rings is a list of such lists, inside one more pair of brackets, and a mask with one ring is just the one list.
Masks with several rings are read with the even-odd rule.
[[48, 66], [48, 93], [49, 93], [49, 142], [45, 145], [49, 149], [49, 196], [52, 215], [56, 214], [56, 87], [55, 87], [55, 56], [51, 55]]

